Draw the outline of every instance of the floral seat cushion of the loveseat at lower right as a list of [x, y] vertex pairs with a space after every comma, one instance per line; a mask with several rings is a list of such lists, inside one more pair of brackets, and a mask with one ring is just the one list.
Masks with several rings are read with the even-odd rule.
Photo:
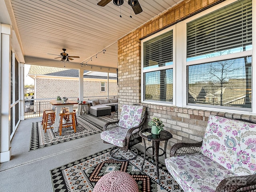
[[235, 176], [201, 153], [169, 157], [165, 165], [186, 192], [215, 192], [224, 178]]

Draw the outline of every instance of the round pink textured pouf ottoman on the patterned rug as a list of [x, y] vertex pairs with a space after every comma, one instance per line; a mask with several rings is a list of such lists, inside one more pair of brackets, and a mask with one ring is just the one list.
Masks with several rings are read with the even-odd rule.
[[123, 171], [112, 171], [96, 183], [93, 192], [138, 192], [134, 178]]

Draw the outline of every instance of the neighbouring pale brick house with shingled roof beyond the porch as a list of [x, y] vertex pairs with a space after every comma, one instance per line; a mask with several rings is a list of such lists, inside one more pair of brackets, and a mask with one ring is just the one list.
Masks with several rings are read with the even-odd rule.
[[[28, 76], [34, 79], [34, 98], [78, 98], [78, 70], [31, 65]], [[84, 70], [84, 98], [117, 95], [116, 74]], [[81, 98], [80, 98], [81, 100]]]

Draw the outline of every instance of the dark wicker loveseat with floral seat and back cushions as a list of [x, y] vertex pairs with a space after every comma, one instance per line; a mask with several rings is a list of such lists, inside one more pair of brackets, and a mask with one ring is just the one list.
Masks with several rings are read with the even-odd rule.
[[186, 192], [256, 191], [256, 124], [211, 115], [203, 141], [175, 144], [165, 164]]

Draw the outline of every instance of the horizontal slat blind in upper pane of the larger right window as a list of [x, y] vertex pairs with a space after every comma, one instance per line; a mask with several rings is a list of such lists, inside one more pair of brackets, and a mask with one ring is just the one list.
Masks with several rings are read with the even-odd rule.
[[[187, 24], [187, 58], [252, 45], [252, 0], [239, 0]], [[221, 53], [220, 53], [221, 54]]]

